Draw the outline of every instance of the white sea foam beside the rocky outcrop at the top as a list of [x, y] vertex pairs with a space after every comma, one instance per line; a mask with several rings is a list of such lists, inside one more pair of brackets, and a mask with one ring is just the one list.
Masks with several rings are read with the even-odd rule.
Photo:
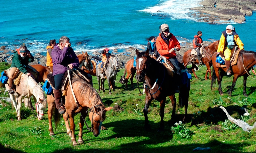
[[170, 16], [172, 19], [190, 19], [196, 20], [188, 16], [190, 11], [189, 8], [202, 6], [199, 4], [203, 0], [161, 0], [156, 6], [150, 6], [145, 8], [144, 12], [153, 14], [164, 14]]

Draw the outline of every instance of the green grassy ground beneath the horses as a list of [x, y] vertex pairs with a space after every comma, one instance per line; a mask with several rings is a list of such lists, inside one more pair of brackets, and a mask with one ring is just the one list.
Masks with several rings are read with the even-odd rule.
[[[125, 85], [118, 83], [124, 70], [118, 73], [116, 80], [116, 91], [108, 95], [108, 85], [105, 82], [105, 93], [100, 93], [104, 105], [115, 106], [115, 103], [124, 111], [107, 112], [107, 118], [102, 126], [99, 137], [94, 137], [86, 127], [83, 130], [84, 144], [72, 146], [71, 138], [66, 134], [66, 127], [61, 119], [60, 127], [54, 129], [55, 136], [50, 136], [48, 131], [48, 118], [45, 112], [43, 120], [34, 118], [32, 112], [24, 110], [25, 116], [21, 121], [15, 118], [15, 110], [11, 109], [10, 103], [0, 105], [0, 144], [2, 150], [12, 152], [192, 152], [197, 147], [210, 147], [211, 152], [254, 152], [256, 150], [256, 129], [251, 133], [244, 132], [240, 127], [226, 130], [223, 123], [227, 119], [220, 104], [224, 106], [229, 114], [242, 119], [244, 114], [240, 108], [246, 108], [250, 113], [247, 121], [251, 126], [256, 122], [256, 84], [255, 80], [248, 77], [247, 94], [243, 96], [243, 77], [236, 82], [232, 97], [227, 92], [231, 87], [233, 77], [224, 76], [222, 81], [223, 96], [219, 95], [218, 85], [210, 89], [210, 80], [204, 80], [206, 67], [200, 66], [196, 71], [199, 80], [192, 74], [191, 90], [189, 95], [188, 122], [183, 123], [184, 128], [193, 132], [191, 138], [181, 138], [179, 134], [173, 133], [171, 127], [183, 118], [184, 108], [176, 107], [175, 119], [171, 119], [172, 104], [169, 98], [165, 106], [164, 132], [157, 132], [160, 126], [160, 104], [153, 101], [149, 108], [150, 131], [144, 130], [144, 116], [136, 113], [140, 110], [143, 114], [145, 95], [140, 96], [134, 79], [135, 89], [131, 88], [130, 80], [128, 90]], [[255, 78], [255, 76], [253, 76]], [[98, 89], [96, 77], [93, 77], [93, 87]], [[142, 91], [142, 84], [140, 83]], [[0, 90], [0, 95], [4, 90]], [[178, 94], [175, 94], [178, 99]], [[247, 98], [247, 99], [245, 99]], [[138, 104], [138, 106], [136, 106]], [[46, 110], [47, 111], [47, 110]], [[35, 111], [34, 111], [35, 113]], [[2, 117], [9, 114], [7, 117]], [[11, 114], [11, 115], [10, 115]], [[14, 114], [14, 115], [13, 115]], [[14, 116], [14, 117], [13, 117]], [[2, 119], [1, 119], [2, 117]], [[78, 140], [80, 115], [75, 116], [76, 140]], [[86, 117], [90, 126], [91, 122]], [[40, 127], [40, 128], [39, 128]], [[0, 148], [0, 149], [1, 149]], [[205, 151], [198, 151], [205, 152]]]

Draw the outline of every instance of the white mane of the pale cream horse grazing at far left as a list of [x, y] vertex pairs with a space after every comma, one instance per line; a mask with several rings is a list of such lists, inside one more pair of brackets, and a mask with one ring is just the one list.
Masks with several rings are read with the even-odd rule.
[[[22, 74], [22, 78], [26, 78], [27, 75], [26, 74]], [[27, 82], [26, 82], [26, 85], [27, 85]], [[37, 84], [36, 80], [34, 78], [32, 78], [31, 76], [28, 77], [28, 90], [31, 92], [33, 90], [36, 89], [36, 91], [39, 93], [39, 94], [42, 94], [40, 96], [42, 96], [44, 99], [41, 101], [41, 103], [44, 105], [44, 107], [46, 108], [46, 104], [47, 104], [47, 101], [45, 99], [45, 96], [44, 96], [44, 91], [43, 91], [43, 88], [41, 88], [40, 85]], [[35, 95], [34, 95], [35, 96]]]

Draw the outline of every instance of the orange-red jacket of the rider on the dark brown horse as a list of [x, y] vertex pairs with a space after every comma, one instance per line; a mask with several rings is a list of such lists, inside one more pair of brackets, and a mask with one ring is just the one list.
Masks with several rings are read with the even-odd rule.
[[[170, 33], [171, 34], [171, 33]], [[180, 49], [180, 42], [176, 39], [174, 35], [172, 35], [171, 39], [169, 40], [169, 47], [168, 45], [164, 42], [161, 34], [159, 34], [159, 37], [156, 39], [156, 49], [159, 52], [161, 56], [164, 56], [167, 59], [170, 59], [172, 57], [176, 56], [175, 51], [172, 53], [169, 53], [168, 51], [172, 48], [175, 48], [178, 46]]]

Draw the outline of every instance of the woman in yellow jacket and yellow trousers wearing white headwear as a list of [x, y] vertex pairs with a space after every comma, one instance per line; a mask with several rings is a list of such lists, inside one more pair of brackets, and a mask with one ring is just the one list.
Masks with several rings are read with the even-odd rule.
[[230, 70], [230, 56], [231, 56], [231, 50], [238, 46], [240, 50], [244, 50], [244, 44], [240, 40], [238, 34], [235, 31], [235, 27], [232, 25], [228, 25], [226, 27], [226, 31], [222, 32], [222, 35], [220, 37], [220, 43], [217, 52], [221, 52], [225, 56], [225, 64], [227, 67], [227, 75], [231, 74]]

